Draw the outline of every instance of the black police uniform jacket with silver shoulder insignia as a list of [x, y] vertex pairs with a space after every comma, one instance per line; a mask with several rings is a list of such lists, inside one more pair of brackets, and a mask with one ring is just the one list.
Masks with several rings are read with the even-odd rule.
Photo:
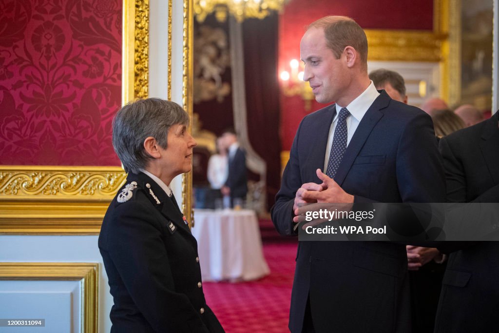
[[206, 305], [196, 239], [149, 176], [130, 173], [102, 222], [111, 332], [224, 332]]

